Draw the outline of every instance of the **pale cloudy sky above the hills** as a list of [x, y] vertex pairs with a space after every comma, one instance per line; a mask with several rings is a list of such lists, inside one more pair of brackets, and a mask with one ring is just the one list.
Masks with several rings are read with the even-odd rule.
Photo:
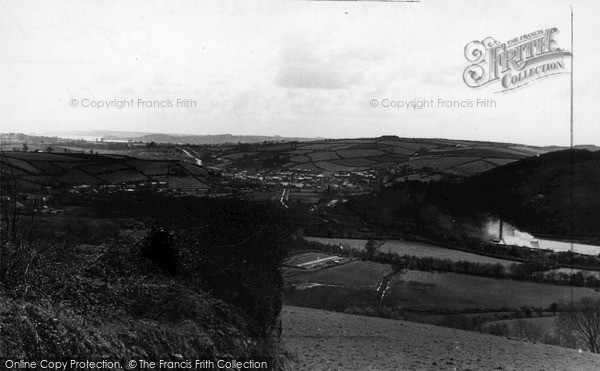
[[[571, 50], [569, 4], [574, 141], [600, 145], [596, 0], [0, 0], [0, 132], [568, 145], [568, 73], [499, 92], [467, 86], [463, 72], [465, 46], [489, 36], [556, 27]], [[477, 99], [495, 107], [439, 103]], [[434, 104], [406, 108], [414, 100]]]

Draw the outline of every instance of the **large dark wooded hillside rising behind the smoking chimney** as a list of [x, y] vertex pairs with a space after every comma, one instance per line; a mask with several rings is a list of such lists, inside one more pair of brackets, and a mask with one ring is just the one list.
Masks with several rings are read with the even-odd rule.
[[538, 238], [600, 244], [600, 152], [561, 150], [463, 179], [396, 182], [336, 208], [336, 215], [456, 245], [488, 238], [482, 231], [490, 216]]

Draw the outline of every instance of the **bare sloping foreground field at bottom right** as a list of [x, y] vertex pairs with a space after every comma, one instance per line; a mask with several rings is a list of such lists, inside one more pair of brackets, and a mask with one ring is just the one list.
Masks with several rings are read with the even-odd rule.
[[600, 370], [600, 355], [412, 322], [286, 306], [298, 370]]

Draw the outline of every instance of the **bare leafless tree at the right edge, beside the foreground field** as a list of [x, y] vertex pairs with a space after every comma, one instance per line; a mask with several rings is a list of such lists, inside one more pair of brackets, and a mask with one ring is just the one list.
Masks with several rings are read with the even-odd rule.
[[600, 353], [600, 299], [581, 298], [562, 305], [558, 325], [581, 341], [593, 353]]

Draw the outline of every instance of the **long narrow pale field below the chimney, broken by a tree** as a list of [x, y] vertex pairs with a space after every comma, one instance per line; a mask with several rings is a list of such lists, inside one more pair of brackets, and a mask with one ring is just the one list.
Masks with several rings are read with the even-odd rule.
[[[364, 250], [367, 240], [347, 239], [347, 238], [324, 238], [324, 237], [305, 237], [308, 241], [320, 242], [323, 244], [341, 245], [357, 250]], [[412, 255], [418, 257], [430, 257], [436, 259], [450, 259], [452, 261], [468, 261], [482, 264], [502, 264], [509, 267], [514, 262], [504, 259], [490, 258], [487, 256], [471, 254], [459, 250], [446, 249], [443, 247], [431, 245], [417, 241], [388, 240], [380, 248], [380, 252], [394, 253], [398, 255]]]

